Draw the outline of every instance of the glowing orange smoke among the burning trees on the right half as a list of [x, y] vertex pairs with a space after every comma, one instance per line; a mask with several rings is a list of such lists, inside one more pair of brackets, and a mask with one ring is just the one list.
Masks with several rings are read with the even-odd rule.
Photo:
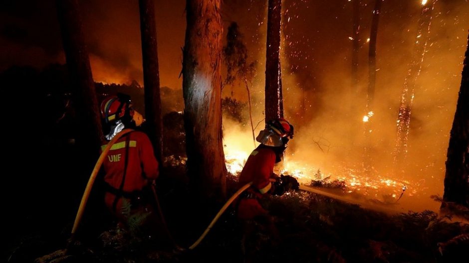
[[[246, 42], [251, 56], [259, 62], [251, 88], [255, 123], [263, 117], [264, 107], [266, 6], [249, 3], [248, 16], [256, 19], [239, 24], [246, 36], [251, 34]], [[448, 135], [467, 44], [469, 5], [464, 0], [440, 0], [435, 5], [427, 53], [416, 83], [407, 165], [397, 168], [393, 167], [392, 159], [396, 120], [407, 64], [412, 59], [421, 2], [383, 3], [370, 133], [364, 131], [362, 118], [368, 81], [366, 40], [370, 34], [372, 8], [372, 4], [362, 3], [360, 89], [352, 91], [351, 3], [284, 0], [281, 46], [284, 107], [285, 117], [295, 126], [296, 133], [289, 143], [285, 165], [292, 163], [291, 168], [300, 168], [309, 178], [321, 169], [323, 174], [345, 178], [348, 183], [352, 179], [362, 180], [359, 182], [362, 185], [377, 183], [378, 192], [368, 194], [381, 200], [381, 194], [399, 196], [402, 186], [407, 185], [408, 190], [400, 200], [402, 206], [436, 210], [439, 204], [431, 200], [430, 195], [443, 195]], [[237, 9], [230, 6], [230, 10], [234, 17]], [[244, 16], [239, 14], [240, 21]], [[234, 94], [242, 92], [239, 87]], [[238, 99], [245, 100], [245, 97]], [[227, 128], [229, 125], [225, 122], [225, 134], [232, 129]], [[364, 141], [364, 132], [370, 133], [369, 141]], [[251, 135], [247, 130], [238, 136], [237, 141], [248, 141]], [[363, 171], [363, 147], [368, 144], [372, 146], [371, 174]], [[367, 181], [370, 178], [365, 177], [374, 181]], [[381, 186], [389, 189], [381, 189]]]

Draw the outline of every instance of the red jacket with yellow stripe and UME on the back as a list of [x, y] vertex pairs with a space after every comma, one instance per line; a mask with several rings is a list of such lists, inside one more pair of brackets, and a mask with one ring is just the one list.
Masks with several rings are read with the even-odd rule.
[[[104, 150], [106, 145], [103, 145], [101, 150]], [[126, 152], [128, 156], [126, 156]], [[119, 138], [109, 150], [103, 166], [106, 172], [104, 181], [108, 187], [126, 194], [141, 191], [150, 180], [156, 179], [159, 173], [158, 161], [153, 153], [150, 139], [145, 133], [138, 131], [127, 133]], [[125, 166], [125, 180], [122, 184]], [[122, 198], [118, 197], [114, 204], [116, 201], [116, 195], [112, 193], [115, 192], [114, 189], [106, 192], [104, 201], [112, 212], [120, 216]]]

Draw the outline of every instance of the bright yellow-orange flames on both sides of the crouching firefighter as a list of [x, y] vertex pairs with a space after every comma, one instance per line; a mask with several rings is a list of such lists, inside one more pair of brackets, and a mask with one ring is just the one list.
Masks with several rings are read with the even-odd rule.
[[[374, 115], [372, 111], [365, 117], [371, 118]], [[364, 118], [365, 119], [365, 118]], [[239, 124], [225, 124], [224, 152], [227, 170], [234, 176], [238, 176], [249, 154], [255, 148], [252, 143], [250, 131], [239, 127]], [[280, 168], [281, 167], [281, 168]], [[346, 167], [345, 164], [324, 166], [313, 163], [310, 159], [302, 159], [298, 152], [287, 151], [283, 165], [275, 166], [276, 174], [291, 175], [299, 183], [310, 185], [313, 181], [320, 180], [325, 183], [327, 190], [328, 183], [341, 182], [345, 185], [343, 193], [345, 195], [363, 196], [367, 199], [380, 199], [382, 196], [393, 196], [397, 199], [404, 188], [411, 188], [409, 196], [417, 195], [422, 191], [421, 185], [409, 180], [399, 180], [393, 178], [393, 175], [380, 174], [373, 171], [370, 176], [369, 171], [365, 171], [362, 165], [357, 167]], [[414, 187], [412, 187], [414, 186]]]

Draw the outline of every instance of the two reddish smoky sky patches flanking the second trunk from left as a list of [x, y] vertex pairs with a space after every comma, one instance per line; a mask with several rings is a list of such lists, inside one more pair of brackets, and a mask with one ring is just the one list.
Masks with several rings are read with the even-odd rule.
[[[82, 1], [83, 28], [97, 82], [143, 85], [138, 1]], [[155, 1], [160, 85], [182, 88], [184, 1]]]

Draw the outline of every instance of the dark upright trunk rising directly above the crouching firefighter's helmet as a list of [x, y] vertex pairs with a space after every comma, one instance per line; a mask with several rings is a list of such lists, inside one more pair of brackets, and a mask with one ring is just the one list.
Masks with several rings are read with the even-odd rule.
[[267, 52], [265, 62], [265, 121], [283, 117], [280, 69], [281, 0], [268, 1]]

